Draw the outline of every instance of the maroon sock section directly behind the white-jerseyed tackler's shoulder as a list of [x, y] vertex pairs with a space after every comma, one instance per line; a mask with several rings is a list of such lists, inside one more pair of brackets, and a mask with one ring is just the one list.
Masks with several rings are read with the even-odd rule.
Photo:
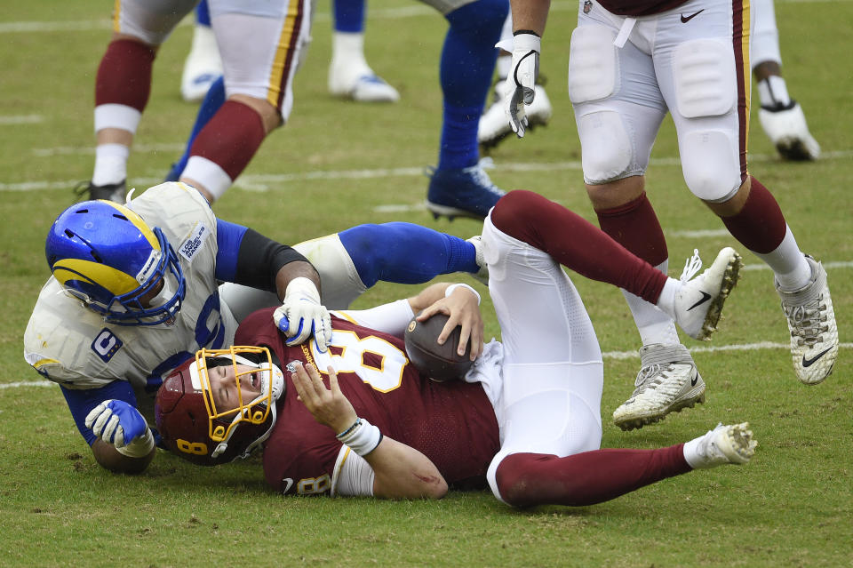
[[266, 136], [257, 112], [243, 103], [226, 100], [198, 133], [189, 155], [207, 158], [236, 180]]

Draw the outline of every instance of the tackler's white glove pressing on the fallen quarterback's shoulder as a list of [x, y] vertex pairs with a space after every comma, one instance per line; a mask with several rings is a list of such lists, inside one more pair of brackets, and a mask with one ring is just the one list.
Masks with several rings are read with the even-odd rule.
[[320, 303], [320, 292], [305, 277], [293, 278], [287, 284], [284, 301], [273, 312], [276, 327], [290, 339], [287, 345], [299, 345], [314, 335], [317, 349], [324, 353], [331, 340], [331, 316]]

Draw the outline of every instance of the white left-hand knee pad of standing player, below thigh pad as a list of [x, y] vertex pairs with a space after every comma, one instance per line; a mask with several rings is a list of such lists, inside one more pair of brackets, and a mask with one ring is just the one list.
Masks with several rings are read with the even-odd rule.
[[586, 183], [597, 184], [625, 177], [634, 145], [617, 112], [604, 110], [578, 116], [581, 163]]

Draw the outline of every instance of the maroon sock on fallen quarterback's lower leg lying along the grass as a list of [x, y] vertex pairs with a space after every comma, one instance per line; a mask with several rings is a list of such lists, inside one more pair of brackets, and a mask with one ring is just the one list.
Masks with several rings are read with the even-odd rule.
[[690, 471], [683, 445], [595, 450], [565, 458], [514, 453], [498, 466], [498, 491], [514, 507], [594, 505]]

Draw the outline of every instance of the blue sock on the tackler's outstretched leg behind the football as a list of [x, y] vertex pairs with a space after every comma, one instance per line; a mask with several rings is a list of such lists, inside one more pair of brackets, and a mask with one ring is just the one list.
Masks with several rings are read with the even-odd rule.
[[358, 225], [339, 237], [368, 288], [380, 280], [422, 284], [438, 275], [480, 269], [474, 244], [413, 223]]

